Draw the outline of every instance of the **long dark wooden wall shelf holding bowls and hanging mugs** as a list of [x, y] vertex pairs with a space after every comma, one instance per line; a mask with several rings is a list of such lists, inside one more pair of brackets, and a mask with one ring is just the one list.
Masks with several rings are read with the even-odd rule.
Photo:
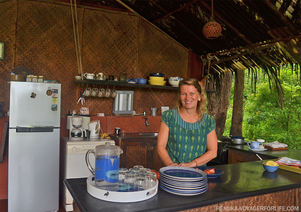
[[[134, 88], [154, 88], [154, 89], [166, 89], [166, 90], [178, 90], [178, 87], [172, 87], [169, 85], [150, 85], [150, 84], [138, 84], [138, 83], [122, 83], [112, 81], [98, 81], [98, 80], [74, 80], [76, 84], [95, 84], [95, 85], [110, 85], [120, 87], [134, 87]], [[167, 82], [166, 82], [167, 83]], [[206, 90], [207, 93], [215, 93], [215, 90]]]

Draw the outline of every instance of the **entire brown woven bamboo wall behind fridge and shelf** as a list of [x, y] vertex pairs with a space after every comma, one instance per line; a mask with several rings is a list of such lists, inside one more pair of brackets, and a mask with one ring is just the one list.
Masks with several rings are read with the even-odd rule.
[[[13, 64], [15, 4], [14, 1], [1, 3], [1, 41], [5, 41], [5, 60], [0, 61], [3, 110], [9, 109], [6, 79], [15, 66], [25, 66], [35, 75], [60, 81], [61, 115], [66, 115], [69, 109], [79, 111], [82, 107], [77, 104], [80, 85], [73, 83], [78, 68], [70, 7], [18, 1]], [[126, 72], [128, 78], [147, 78], [149, 73], [158, 71], [165, 73], [166, 77], [187, 77], [188, 51], [144, 20], [122, 12], [82, 8], [77, 9], [77, 16], [83, 73], [93, 73], [98, 69], [97, 72], [105, 75], [119, 76]], [[115, 89], [134, 91], [133, 110], [137, 113], [147, 111], [150, 114], [149, 108], [153, 106], [172, 107], [177, 95], [174, 90]], [[111, 115], [113, 99], [86, 97], [83, 107], [89, 108], [90, 115], [95, 116], [99, 112]]]

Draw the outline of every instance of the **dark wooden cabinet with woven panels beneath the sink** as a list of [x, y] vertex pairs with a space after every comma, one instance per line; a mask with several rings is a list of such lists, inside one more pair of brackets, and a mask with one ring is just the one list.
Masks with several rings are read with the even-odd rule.
[[[141, 165], [159, 171], [164, 167], [157, 152], [157, 137], [113, 138], [123, 153], [120, 154], [119, 167], [133, 168]], [[118, 143], [118, 144], [117, 144]]]

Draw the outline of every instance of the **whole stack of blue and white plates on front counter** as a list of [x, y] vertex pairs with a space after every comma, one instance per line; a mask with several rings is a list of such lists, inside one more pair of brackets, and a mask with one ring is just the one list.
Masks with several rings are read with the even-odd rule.
[[192, 196], [207, 190], [206, 172], [189, 167], [168, 166], [160, 168], [160, 187], [172, 194]]

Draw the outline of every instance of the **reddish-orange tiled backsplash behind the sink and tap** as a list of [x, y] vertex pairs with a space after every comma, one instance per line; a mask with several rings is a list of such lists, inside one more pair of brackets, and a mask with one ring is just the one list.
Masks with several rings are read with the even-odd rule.
[[[112, 122], [111, 122], [112, 120]], [[147, 116], [149, 126], [145, 126], [144, 116], [115, 117], [107, 116], [107, 133], [114, 133], [115, 128], [126, 130], [126, 133], [158, 132], [161, 116]], [[109, 129], [110, 128], [110, 129]]]

